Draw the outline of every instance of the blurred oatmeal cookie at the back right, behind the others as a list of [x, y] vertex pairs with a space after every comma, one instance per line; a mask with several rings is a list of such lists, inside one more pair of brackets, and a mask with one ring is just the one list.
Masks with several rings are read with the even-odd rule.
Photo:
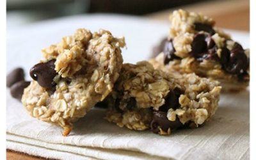
[[249, 49], [214, 28], [214, 20], [201, 13], [176, 10], [170, 22], [168, 38], [159, 44], [156, 58], [150, 60], [155, 68], [211, 77], [220, 81], [225, 91], [248, 86]]

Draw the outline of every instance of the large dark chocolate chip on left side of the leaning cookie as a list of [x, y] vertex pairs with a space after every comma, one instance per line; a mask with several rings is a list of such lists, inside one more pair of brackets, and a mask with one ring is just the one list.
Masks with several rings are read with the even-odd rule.
[[54, 70], [56, 60], [50, 60], [46, 63], [38, 63], [30, 69], [30, 76], [32, 79], [37, 81], [40, 86], [44, 88], [54, 88], [56, 83], [54, 83], [53, 78], [57, 75]]

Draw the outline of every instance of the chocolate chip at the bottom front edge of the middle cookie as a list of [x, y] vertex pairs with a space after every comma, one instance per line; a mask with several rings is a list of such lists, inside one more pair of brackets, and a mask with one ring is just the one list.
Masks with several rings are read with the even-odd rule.
[[167, 132], [168, 129], [178, 129], [182, 127], [183, 124], [179, 121], [179, 118], [176, 118], [175, 121], [170, 121], [166, 117], [166, 113], [163, 111], [154, 111], [153, 120], [150, 123], [150, 129], [154, 133], [159, 133], [160, 128]]

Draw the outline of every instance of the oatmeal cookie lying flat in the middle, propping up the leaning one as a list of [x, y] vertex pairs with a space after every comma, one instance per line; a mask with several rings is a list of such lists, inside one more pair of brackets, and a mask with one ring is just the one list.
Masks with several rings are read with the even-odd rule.
[[108, 98], [106, 119], [119, 127], [170, 134], [198, 127], [218, 108], [218, 81], [195, 74], [166, 74], [147, 61], [123, 65]]

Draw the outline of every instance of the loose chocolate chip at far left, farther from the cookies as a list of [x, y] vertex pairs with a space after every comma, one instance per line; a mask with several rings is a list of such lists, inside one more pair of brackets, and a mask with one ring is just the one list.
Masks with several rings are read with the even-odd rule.
[[14, 83], [24, 80], [24, 70], [15, 68], [6, 76], [6, 86], [11, 87]]

